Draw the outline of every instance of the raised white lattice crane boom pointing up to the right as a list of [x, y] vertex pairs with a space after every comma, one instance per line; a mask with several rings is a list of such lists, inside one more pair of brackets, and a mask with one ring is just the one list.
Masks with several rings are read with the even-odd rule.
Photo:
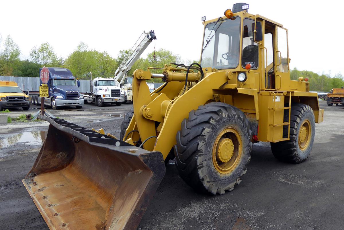
[[140, 35], [139, 39], [129, 50], [128, 54], [124, 57], [122, 63], [118, 66], [115, 72], [115, 80], [122, 84], [126, 78], [128, 71], [131, 69], [132, 65], [137, 61], [140, 55], [146, 50], [147, 46], [152, 42], [152, 40], [157, 39], [154, 30]]

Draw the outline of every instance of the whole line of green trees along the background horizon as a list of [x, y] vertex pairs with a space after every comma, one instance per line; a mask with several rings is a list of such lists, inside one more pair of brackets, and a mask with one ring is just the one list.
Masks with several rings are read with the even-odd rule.
[[[2, 44], [3, 43], [3, 44]], [[3, 76], [28, 76], [38, 77], [39, 68], [46, 67], [65, 67], [72, 71], [78, 79], [86, 79], [86, 74], [92, 72], [92, 77], [113, 77], [118, 65], [123, 61], [129, 50], [121, 50], [116, 58], [111, 57], [106, 51], [100, 52], [88, 47], [87, 44], [80, 42], [77, 48], [68, 55], [66, 59], [58, 57], [53, 47], [49, 43], [42, 43], [39, 47], [34, 46], [30, 51], [30, 59], [21, 60], [21, 50], [13, 41], [11, 36], [2, 42], [0, 34], [0, 75]], [[147, 55], [146, 58], [139, 59], [132, 66], [128, 75], [134, 70], [147, 67], [163, 67], [165, 64], [183, 63], [191, 64], [199, 62], [198, 60], [183, 61], [181, 56], [174, 54], [166, 49], [159, 49]], [[151, 70], [153, 73], [161, 73], [161, 70]], [[329, 74], [317, 74], [312, 71], [300, 71], [294, 68], [290, 71], [291, 80], [308, 77], [310, 82], [310, 91], [329, 92], [332, 88], [344, 86], [344, 79], [341, 73], [331, 77]], [[161, 81], [154, 79], [155, 82]]]

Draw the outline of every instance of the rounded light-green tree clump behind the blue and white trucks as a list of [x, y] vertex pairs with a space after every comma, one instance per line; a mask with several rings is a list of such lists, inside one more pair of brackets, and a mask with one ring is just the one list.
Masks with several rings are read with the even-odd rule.
[[64, 67], [71, 70], [79, 79], [89, 79], [86, 73], [92, 72], [92, 77], [113, 77], [117, 69], [117, 62], [106, 51], [99, 52], [89, 49], [85, 43], [80, 43], [71, 53]]

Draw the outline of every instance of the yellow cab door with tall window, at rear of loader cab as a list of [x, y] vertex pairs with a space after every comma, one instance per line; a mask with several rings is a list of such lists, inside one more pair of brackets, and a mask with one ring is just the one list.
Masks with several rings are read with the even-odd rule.
[[290, 90], [288, 30], [276, 25], [274, 39], [275, 89]]

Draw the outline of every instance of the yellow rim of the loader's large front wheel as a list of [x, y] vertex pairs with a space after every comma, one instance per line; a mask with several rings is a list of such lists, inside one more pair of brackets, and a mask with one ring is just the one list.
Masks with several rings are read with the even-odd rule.
[[235, 128], [225, 128], [213, 144], [213, 164], [221, 174], [232, 172], [239, 164], [242, 148], [241, 137]]

